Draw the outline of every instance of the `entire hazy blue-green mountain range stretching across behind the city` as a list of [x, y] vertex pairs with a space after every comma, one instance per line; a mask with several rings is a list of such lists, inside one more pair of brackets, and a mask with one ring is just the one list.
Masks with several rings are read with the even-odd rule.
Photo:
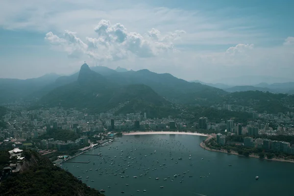
[[[68, 76], [47, 74], [27, 80], [0, 79], [0, 103], [29, 100], [37, 107], [89, 108], [92, 112], [147, 112], [155, 117], [180, 113], [175, 104], [210, 107], [242, 101], [238, 91], [252, 91], [248, 93], [251, 96], [247, 96], [248, 100], [258, 98], [258, 94], [264, 96], [264, 100], [270, 98], [275, 102], [281, 97], [262, 92], [290, 93], [294, 92], [293, 87], [292, 82], [233, 87], [198, 80], [188, 82], [170, 73], [153, 73], [146, 69], [128, 71], [120, 67], [116, 70], [103, 66], [90, 68], [85, 63], [79, 72]], [[282, 107], [284, 102], [278, 103], [276, 110]]]

